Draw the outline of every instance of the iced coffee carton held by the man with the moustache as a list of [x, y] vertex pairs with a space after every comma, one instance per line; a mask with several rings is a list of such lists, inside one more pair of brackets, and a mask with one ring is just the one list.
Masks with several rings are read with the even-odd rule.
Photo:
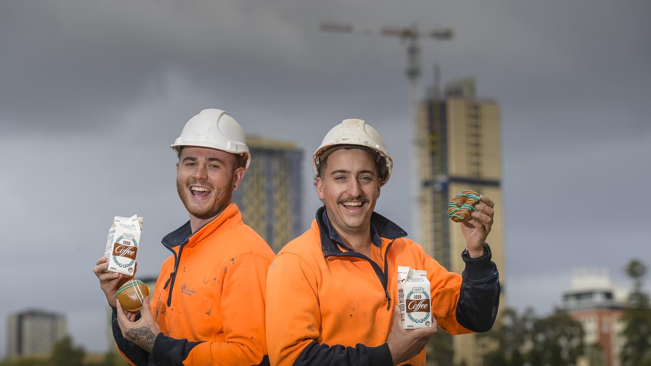
[[402, 328], [432, 326], [432, 303], [427, 271], [398, 266], [398, 305]]

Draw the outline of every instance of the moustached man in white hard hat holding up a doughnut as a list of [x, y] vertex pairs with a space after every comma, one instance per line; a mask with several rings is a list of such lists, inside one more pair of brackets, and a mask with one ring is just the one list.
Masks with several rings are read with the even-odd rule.
[[[452, 334], [490, 330], [500, 287], [485, 243], [493, 223], [488, 197], [482, 195], [471, 219], [460, 224], [467, 249], [460, 253], [464, 274], [458, 275], [374, 212], [393, 168], [374, 128], [344, 120], [327, 133], [313, 158], [324, 206], [311, 228], [278, 253], [267, 278], [272, 365], [420, 366], [437, 327]], [[398, 266], [426, 271], [432, 318], [424, 328], [402, 326]]]

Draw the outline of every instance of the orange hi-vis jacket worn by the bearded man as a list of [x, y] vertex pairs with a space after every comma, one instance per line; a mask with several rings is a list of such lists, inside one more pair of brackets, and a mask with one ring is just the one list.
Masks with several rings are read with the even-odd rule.
[[126, 341], [113, 311], [113, 336], [130, 365], [268, 365], [264, 295], [271, 248], [232, 203], [196, 232], [189, 222], [163, 238], [151, 300], [161, 329], [149, 354]]

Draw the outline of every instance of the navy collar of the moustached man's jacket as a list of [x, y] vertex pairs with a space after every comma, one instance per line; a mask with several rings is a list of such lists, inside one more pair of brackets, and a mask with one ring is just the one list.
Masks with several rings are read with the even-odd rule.
[[[344, 246], [341, 236], [333, 229], [327, 218], [326, 206], [322, 206], [316, 210], [316, 224], [319, 227], [321, 236], [321, 249], [326, 257], [335, 253], [342, 253], [337, 243], [348, 249], [348, 251], [353, 251]], [[378, 247], [382, 245], [381, 238], [395, 240], [396, 238], [407, 236], [406, 231], [377, 212], [373, 212], [370, 216], [370, 233], [373, 244]]]

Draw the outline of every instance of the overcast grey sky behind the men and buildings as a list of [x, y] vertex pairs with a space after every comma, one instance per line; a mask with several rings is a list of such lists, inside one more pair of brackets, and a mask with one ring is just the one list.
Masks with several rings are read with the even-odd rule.
[[[106, 349], [94, 260], [113, 216], [137, 213], [139, 274], [158, 274], [187, 219], [168, 147], [204, 108], [295, 141], [306, 177], [329, 128], [367, 120], [395, 161], [376, 210], [411, 230], [404, 46], [322, 21], [454, 27], [422, 44], [424, 81], [439, 63], [501, 107], [509, 305], [549, 313], [577, 267], [628, 286], [628, 260], [651, 265], [650, 19], [648, 0], [1, 1], [0, 355], [25, 308]], [[309, 178], [303, 193], [307, 228]]]

